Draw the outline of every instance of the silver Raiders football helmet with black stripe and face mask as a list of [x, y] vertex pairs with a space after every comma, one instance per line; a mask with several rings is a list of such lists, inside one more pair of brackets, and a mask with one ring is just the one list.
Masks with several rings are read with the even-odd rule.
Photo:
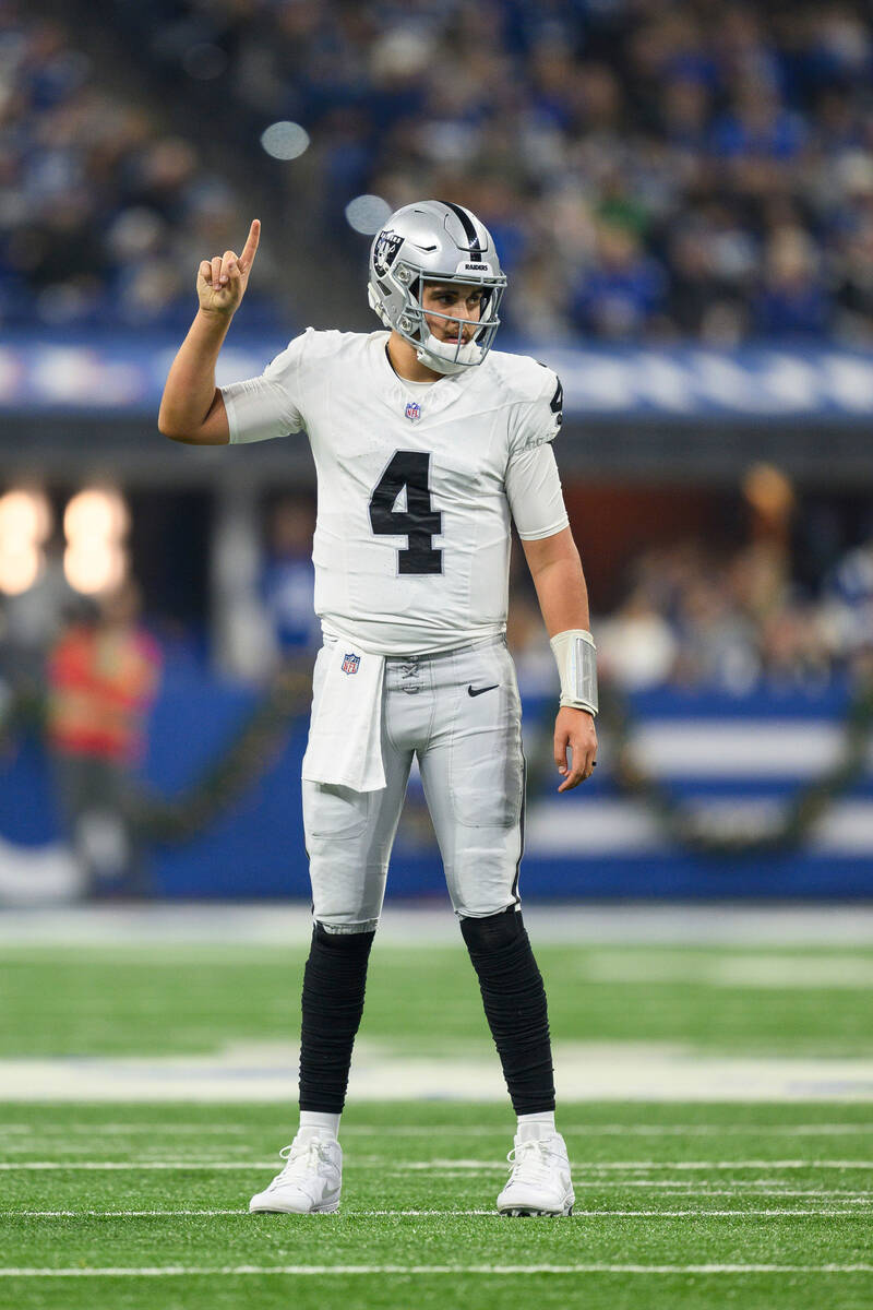
[[[466, 345], [466, 318], [428, 309], [428, 317], [457, 324], [455, 342], [440, 341], [428, 328], [421, 305], [425, 282], [483, 288], [479, 324]], [[376, 234], [370, 249], [370, 308], [437, 373], [459, 373], [482, 363], [500, 326], [497, 309], [505, 286], [491, 233], [475, 214], [450, 200], [404, 204]]]

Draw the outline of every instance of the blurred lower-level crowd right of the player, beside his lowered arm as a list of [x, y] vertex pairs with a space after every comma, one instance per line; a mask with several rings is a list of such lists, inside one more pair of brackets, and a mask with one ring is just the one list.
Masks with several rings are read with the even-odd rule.
[[[715, 552], [699, 538], [637, 554], [616, 605], [593, 612], [601, 680], [745, 696], [817, 692], [835, 677], [873, 676], [873, 537], [844, 553], [815, 587], [759, 541]], [[551, 688], [554, 660], [535, 597], [518, 570], [509, 639], [522, 692]]]

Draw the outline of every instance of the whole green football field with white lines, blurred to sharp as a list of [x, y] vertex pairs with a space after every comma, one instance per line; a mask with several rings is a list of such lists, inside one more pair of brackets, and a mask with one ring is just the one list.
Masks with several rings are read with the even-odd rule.
[[495, 1214], [513, 1119], [463, 948], [427, 939], [374, 947], [342, 1212], [255, 1217], [304, 942], [7, 934], [0, 1306], [869, 1310], [873, 950], [537, 954], [572, 1217]]

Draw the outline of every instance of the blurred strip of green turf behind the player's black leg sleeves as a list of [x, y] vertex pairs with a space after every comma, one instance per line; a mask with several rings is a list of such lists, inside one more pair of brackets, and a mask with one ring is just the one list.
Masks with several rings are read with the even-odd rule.
[[[534, 943], [535, 945], [535, 943]], [[288, 1040], [306, 947], [4, 947], [0, 1056], [157, 1055]], [[873, 1053], [873, 951], [538, 946], [552, 1035], [700, 1051]], [[766, 968], [766, 985], [743, 969]], [[804, 971], [808, 972], [805, 977]], [[433, 998], [440, 998], [435, 1013]], [[491, 1049], [461, 938], [373, 950], [363, 1035], [415, 1053]], [[0, 1091], [1, 1095], [1, 1091]]]

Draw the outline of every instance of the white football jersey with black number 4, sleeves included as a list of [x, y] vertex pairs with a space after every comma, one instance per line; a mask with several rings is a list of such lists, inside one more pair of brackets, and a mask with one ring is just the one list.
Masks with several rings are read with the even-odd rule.
[[309, 436], [325, 633], [418, 655], [505, 629], [510, 512], [529, 540], [567, 527], [547, 444], [561, 389], [534, 359], [493, 350], [429, 386], [406, 383], [387, 338], [309, 328], [223, 396], [233, 443]]

